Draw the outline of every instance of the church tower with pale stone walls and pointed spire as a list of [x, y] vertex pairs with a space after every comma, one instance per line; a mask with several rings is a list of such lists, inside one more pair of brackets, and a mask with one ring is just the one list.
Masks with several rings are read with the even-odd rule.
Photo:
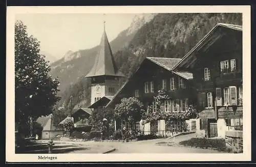
[[114, 96], [119, 89], [119, 78], [125, 77], [117, 71], [109, 40], [105, 32], [105, 21], [99, 47], [94, 65], [86, 75], [86, 77], [91, 78], [91, 104], [104, 96]]

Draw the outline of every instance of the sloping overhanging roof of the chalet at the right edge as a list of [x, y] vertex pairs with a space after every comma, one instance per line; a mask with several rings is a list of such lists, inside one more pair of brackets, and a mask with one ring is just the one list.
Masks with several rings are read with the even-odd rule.
[[213, 35], [214, 33], [220, 29], [221, 27], [227, 28], [227, 29], [232, 29], [232, 30], [236, 30], [236, 31], [240, 31], [242, 32], [242, 26], [241, 25], [234, 25], [234, 24], [226, 24], [226, 23], [218, 23], [216, 24], [208, 34], [206, 34], [201, 41], [199, 41], [195, 47], [193, 47], [182, 59], [180, 62], [178, 62], [173, 68], [172, 70], [179, 70], [178, 68], [182, 67], [184, 65], [184, 63], [186, 62], [192, 62], [192, 60], [189, 60], [190, 57], [193, 56], [193, 53], [197, 50], [199, 50]]

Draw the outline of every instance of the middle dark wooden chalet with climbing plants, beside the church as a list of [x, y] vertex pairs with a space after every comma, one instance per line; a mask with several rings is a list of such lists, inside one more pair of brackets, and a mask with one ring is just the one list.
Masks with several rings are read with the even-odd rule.
[[[154, 110], [156, 105], [154, 96], [157, 96], [158, 91], [163, 90], [170, 97], [170, 100], [164, 101], [160, 112], [186, 112], [188, 104], [196, 100], [196, 91], [192, 86], [193, 75], [191, 73], [171, 70], [180, 60], [147, 57], [105, 107], [115, 108], [115, 105], [120, 103], [122, 98], [137, 97], [146, 110], [149, 105], [153, 105], [153, 112], [156, 112]], [[157, 130], [166, 134], [172, 129], [180, 132], [182, 123], [181, 121], [174, 122], [168, 126], [165, 125], [165, 120], [147, 123], [144, 125], [144, 133]], [[120, 129], [121, 126], [121, 122], [116, 121], [116, 129]], [[126, 123], [125, 126], [128, 130], [143, 131], [141, 122]]]

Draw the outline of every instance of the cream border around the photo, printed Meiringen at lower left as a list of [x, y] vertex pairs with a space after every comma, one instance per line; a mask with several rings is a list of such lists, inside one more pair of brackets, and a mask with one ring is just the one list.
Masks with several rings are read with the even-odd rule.
[[[57, 160], [38, 160], [37, 154], [15, 154], [14, 148], [14, 22], [22, 13], [243, 13], [243, 154], [56, 154]], [[7, 7], [6, 161], [248, 161], [251, 160], [250, 6], [95, 6]], [[168, 149], [168, 148], [166, 148]], [[41, 154], [43, 155], [43, 154]]]

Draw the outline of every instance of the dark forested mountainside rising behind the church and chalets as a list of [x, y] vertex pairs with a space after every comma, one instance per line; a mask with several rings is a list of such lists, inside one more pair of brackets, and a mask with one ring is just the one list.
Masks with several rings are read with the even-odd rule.
[[[135, 17], [134, 20], [136, 19], [138, 17]], [[144, 22], [143, 25], [135, 21], [129, 29], [121, 32], [111, 42], [117, 66], [127, 77], [133, 74], [145, 57], [184, 57], [218, 22], [242, 25], [242, 14], [161, 13], [152, 15], [148, 21], [145, 17], [142, 17], [141, 20]], [[135, 27], [139, 27], [138, 30], [130, 34]], [[79, 51], [81, 58], [73, 59], [66, 64], [55, 65], [55, 71], [56, 69], [62, 70], [66, 76], [71, 75], [72, 77], [85, 75], [93, 65], [96, 51], [97, 47]], [[69, 71], [71, 68], [68, 66], [72, 66], [72, 71]], [[90, 81], [85, 78], [70, 80], [67, 77], [66, 79], [68, 87], [61, 95], [62, 99], [59, 105], [64, 106], [67, 110], [77, 104], [83, 107], [89, 105]], [[122, 85], [122, 81], [120, 85]], [[70, 102], [71, 95], [72, 103]]]

